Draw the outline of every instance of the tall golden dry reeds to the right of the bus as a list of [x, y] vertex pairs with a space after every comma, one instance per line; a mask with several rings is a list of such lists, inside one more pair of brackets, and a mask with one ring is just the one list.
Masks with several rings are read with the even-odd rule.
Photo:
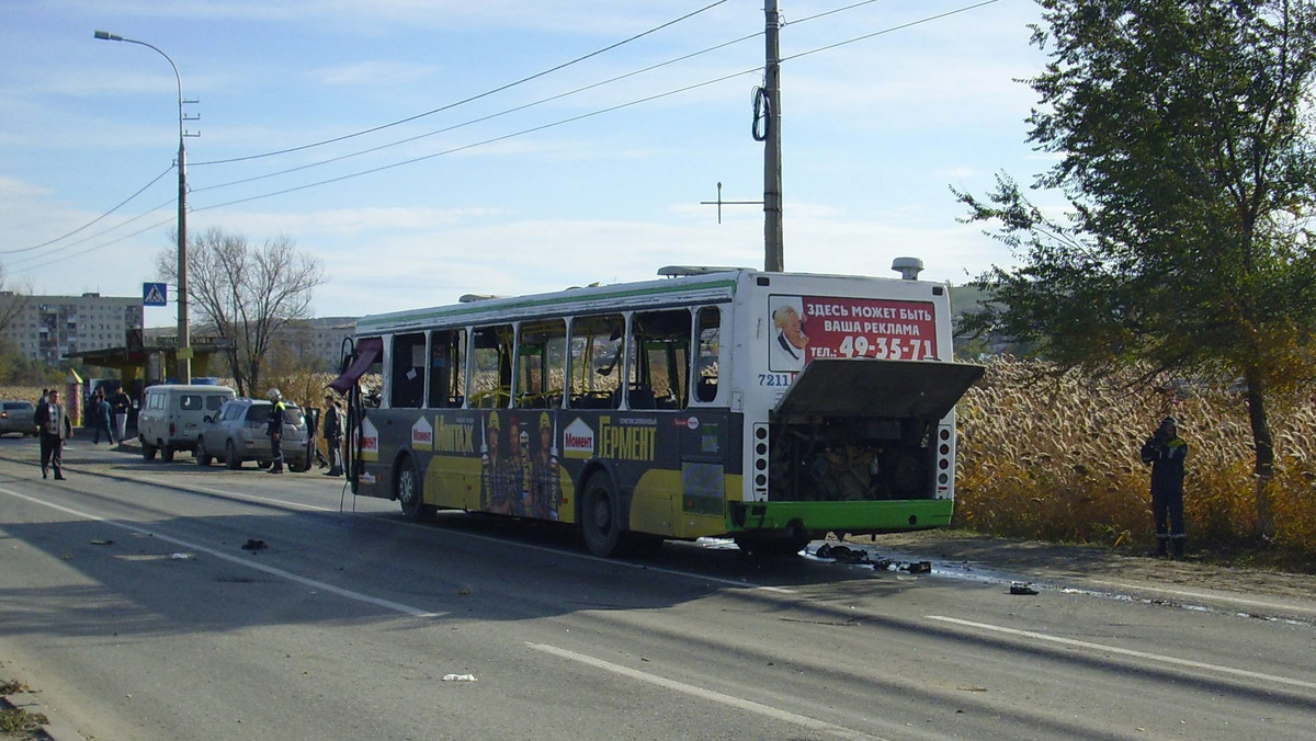
[[[1225, 384], [1166, 382], [1132, 392], [1078, 372], [1029, 383], [1038, 366], [995, 359], [959, 403], [955, 520], [983, 533], [1146, 548], [1154, 540], [1142, 441], [1169, 413], [1188, 441], [1184, 516], [1191, 550], [1257, 545], [1248, 411]], [[1274, 546], [1316, 563], [1316, 411], [1311, 399], [1270, 413]]]

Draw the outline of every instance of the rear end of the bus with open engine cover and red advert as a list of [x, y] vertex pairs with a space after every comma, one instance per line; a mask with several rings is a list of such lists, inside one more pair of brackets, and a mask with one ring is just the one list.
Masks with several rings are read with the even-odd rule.
[[950, 523], [954, 405], [984, 369], [951, 362], [948, 291], [757, 274], [737, 296], [746, 474], [728, 515], [742, 548]]

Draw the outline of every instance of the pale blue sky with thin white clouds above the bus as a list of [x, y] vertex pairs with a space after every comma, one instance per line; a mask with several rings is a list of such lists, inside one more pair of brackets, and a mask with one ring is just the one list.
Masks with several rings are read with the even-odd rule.
[[[957, 222], [949, 188], [1049, 165], [1016, 82], [1044, 63], [1036, 3], [829, 13], [854, 4], [780, 0], [787, 270], [894, 275], [916, 255], [924, 278], [962, 283], [1008, 265]], [[761, 207], [726, 205], [719, 224], [700, 201], [719, 182], [726, 200], [762, 199], [763, 25], [759, 0], [0, 0], [5, 284], [141, 295], [172, 250], [174, 72], [95, 30], [159, 47], [199, 100], [188, 230], [293, 240], [325, 267], [317, 316], [762, 267]], [[265, 157], [280, 150], [295, 151]], [[147, 309], [147, 325], [174, 311]]]

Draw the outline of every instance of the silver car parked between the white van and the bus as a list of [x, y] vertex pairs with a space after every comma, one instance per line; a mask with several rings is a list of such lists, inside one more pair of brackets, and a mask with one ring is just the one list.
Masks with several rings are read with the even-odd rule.
[[[291, 401], [283, 403], [283, 463], [290, 470], [311, 469], [311, 434], [307, 416]], [[266, 420], [272, 404], [265, 399], [234, 399], [213, 416], [205, 417], [196, 438], [196, 462], [209, 466], [211, 461], [224, 461], [229, 469], [241, 469], [243, 461], [258, 466], [271, 463], [270, 437]]]

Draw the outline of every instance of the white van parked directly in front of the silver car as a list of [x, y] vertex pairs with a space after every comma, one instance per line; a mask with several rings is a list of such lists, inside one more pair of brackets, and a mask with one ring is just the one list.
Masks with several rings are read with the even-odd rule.
[[161, 459], [167, 463], [174, 459], [175, 450], [196, 453], [196, 438], [204, 419], [213, 416], [234, 396], [237, 394], [228, 386], [167, 383], [146, 387], [137, 415], [142, 457], [153, 461], [159, 451]]

